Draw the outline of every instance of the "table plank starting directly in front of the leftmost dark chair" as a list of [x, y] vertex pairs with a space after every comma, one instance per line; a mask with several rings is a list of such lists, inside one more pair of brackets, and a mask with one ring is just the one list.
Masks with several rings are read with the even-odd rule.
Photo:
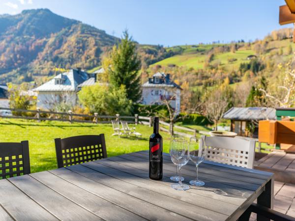
[[60, 220], [102, 220], [29, 175], [9, 178], [9, 181]]

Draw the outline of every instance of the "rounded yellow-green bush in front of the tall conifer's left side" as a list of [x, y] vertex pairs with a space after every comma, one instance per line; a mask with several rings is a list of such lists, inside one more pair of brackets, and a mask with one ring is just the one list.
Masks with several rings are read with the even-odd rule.
[[82, 87], [78, 97], [80, 103], [91, 113], [108, 115], [129, 115], [132, 102], [126, 97], [125, 86], [115, 89], [107, 85], [94, 84], [92, 86]]

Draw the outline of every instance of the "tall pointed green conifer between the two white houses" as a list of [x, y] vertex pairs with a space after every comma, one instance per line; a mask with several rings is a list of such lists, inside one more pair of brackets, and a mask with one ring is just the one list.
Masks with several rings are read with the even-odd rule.
[[136, 53], [136, 44], [127, 30], [123, 32], [119, 45], [113, 47], [109, 64], [105, 70], [110, 83], [117, 89], [124, 85], [127, 98], [137, 102], [141, 98], [141, 80], [138, 74], [141, 62]]

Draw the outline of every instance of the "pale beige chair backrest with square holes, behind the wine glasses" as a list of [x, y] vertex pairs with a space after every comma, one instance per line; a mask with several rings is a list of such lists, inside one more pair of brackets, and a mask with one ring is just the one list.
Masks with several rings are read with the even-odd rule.
[[[206, 160], [223, 164], [253, 168], [255, 155], [255, 140], [229, 137], [207, 137]], [[202, 146], [200, 147], [202, 148]], [[199, 151], [200, 153], [201, 151]]]

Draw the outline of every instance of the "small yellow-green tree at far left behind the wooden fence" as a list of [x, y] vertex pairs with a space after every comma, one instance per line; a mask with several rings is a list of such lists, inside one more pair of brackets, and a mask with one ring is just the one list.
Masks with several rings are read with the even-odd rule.
[[[7, 83], [7, 86], [10, 108], [28, 110], [32, 106], [29, 101], [29, 96], [22, 95], [22, 91], [28, 90], [28, 86], [26, 83], [22, 83], [20, 85]], [[15, 112], [14, 114], [22, 115], [23, 112]]]

